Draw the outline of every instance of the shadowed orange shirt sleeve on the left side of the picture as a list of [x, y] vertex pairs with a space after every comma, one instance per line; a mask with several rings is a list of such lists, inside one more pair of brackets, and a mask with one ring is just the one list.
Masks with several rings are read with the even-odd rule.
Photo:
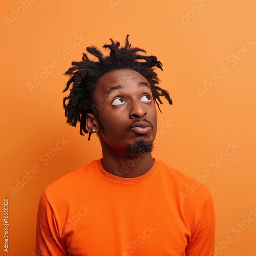
[[46, 191], [41, 195], [37, 213], [36, 255], [67, 255]]

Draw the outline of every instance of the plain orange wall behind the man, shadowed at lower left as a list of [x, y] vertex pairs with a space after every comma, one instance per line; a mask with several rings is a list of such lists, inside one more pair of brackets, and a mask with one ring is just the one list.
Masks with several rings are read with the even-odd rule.
[[[109, 38], [123, 43], [126, 34], [132, 46], [163, 63], [161, 87], [174, 102], [162, 106], [153, 156], [191, 177], [202, 177], [208, 169], [203, 183], [215, 202], [216, 255], [256, 254], [256, 217], [250, 213], [256, 211], [256, 45], [242, 50], [246, 39], [256, 41], [255, 5], [249, 0], [12, 0], [2, 5], [1, 200], [9, 199], [9, 255], [33, 255], [44, 188], [101, 157], [96, 136], [88, 142], [78, 128], [66, 124], [62, 90], [68, 77], [63, 72], [80, 61], [87, 46], [101, 48]], [[44, 76], [43, 67], [51, 64], [54, 68]], [[205, 90], [205, 79], [214, 83], [212, 72], [222, 66], [225, 73], [200, 97], [198, 88]], [[45, 80], [29, 90], [35, 75]], [[172, 125], [161, 133], [164, 123]], [[62, 138], [65, 146], [54, 150]], [[228, 143], [238, 147], [229, 156]], [[47, 152], [56, 155], [48, 162]], [[218, 157], [221, 164], [216, 164]], [[24, 178], [34, 165], [40, 172]], [[11, 193], [17, 179], [27, 184]], [[3, 210], [0, 217], [3, 223]], [[2, 229], [2, 245], [3, 237]]]

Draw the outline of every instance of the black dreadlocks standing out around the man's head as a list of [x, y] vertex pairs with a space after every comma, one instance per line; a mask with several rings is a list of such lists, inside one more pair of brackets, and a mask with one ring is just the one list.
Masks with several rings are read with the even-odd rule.
[[[96, 84], [101, 76], [116, 69], [132, 69], [144, 76], [150, 83], [153, 100], [159, 108], [159, 104], [163, 104], [160, 96], [164, 96], [170, 105], [172, 99], [166, 90], [158, 86], [159, 79], [154, 72], [154, 67], [161, 70], [162, 63], [155, 56], [140, 55], [138, 52], [146, 53], [140, 48], [131, 48], [128, 41], [129, 35], [126, 36], [126, 44], [123, 48], [119, 48], [120, 43], [110, 39], [110, 45], [104, 45], [104, 48], [110, 49], [110, 54], [104, 57], [95, 46], [87, 47], [86, 50], [98, 58], [98, 61], [92, 61], [86, 53], [83, 53], [81, 62], [72, 62], [72, 67], [66, 71], [65, 75], [70, 75], [71, 78], [67, 82], [67, 86], [63, 92], [67, 91], [72, 83], [70, 94], [64, 98], [63, 105], [67, 123], [76, 127], [77, 122], [80, 122], [80, 134], [88, 133], [86, 129], [87, 113], [97, 113], [97, 108], [93, 101], [93, 93]], [[68, 103], [67, 103], [68, 101]], [[160, 108], [159, 108], [160, 110]], [[160, 110], [160, 112], [162, 112]], [[88, 140], [91, 133], [89, 132]]]

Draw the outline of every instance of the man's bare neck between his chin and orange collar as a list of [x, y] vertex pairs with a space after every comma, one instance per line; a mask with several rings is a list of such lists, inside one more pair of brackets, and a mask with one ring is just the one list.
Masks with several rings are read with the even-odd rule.
[[124, 178], [139, 177], [147, 173], [154, 165], [151, 152], [138, 154], [118, 154], [102, 148], [102, 167], [106, 172]]

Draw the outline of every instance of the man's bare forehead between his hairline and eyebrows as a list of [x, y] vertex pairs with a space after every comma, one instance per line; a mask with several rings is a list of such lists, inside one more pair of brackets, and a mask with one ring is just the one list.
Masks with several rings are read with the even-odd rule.
[[96, 90], [106, 91], [112, 86], [129, 86], [131, 83], [148, 83], [147, 79], [132, 69], [112, 70], [104, 74], [96, 84]]

